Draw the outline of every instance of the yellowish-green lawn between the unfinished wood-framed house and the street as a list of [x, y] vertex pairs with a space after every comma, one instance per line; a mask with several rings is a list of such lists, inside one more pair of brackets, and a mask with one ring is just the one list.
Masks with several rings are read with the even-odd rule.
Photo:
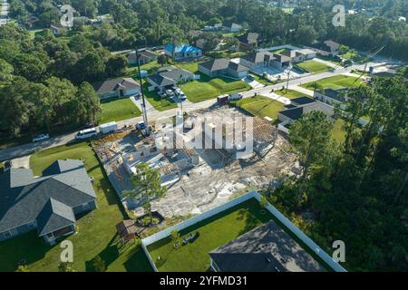
[[284, 104], [282, 102], [264, 96], [245, 98], [235, 102], [235, 105], [250, 112], [254, 116], [261, 118], [267, 116], [273, 120], [277, 120], [278, 112], [284, 110]]

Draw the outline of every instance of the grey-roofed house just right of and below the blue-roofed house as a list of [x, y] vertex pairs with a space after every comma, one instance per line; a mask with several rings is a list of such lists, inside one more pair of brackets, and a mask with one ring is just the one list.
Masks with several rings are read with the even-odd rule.
[[247, 76], [249, 69], [242, 64], [233, 63], [225, 58], [219, 58], [212, 59], [206, 63], [200, 63], [199, 72], [209, 77], [224, 75], [234, 79], [243, 79]]

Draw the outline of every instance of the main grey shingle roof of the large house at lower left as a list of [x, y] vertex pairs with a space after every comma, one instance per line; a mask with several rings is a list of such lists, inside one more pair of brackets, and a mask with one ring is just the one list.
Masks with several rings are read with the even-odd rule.
[[[79, 162], [82, 166], [78, 166]], [[62, 173], [56, 173], [56, 165]], [[34, 178], [29, 169], [10, 169], [0, 174], [0, 233], [33, 222], [50, 198], [75, 208], [96, 198], [83, 163], [78, 160], [58, 161], [48, 175]], [[72, 168], [70, 168], [70, 165]]]

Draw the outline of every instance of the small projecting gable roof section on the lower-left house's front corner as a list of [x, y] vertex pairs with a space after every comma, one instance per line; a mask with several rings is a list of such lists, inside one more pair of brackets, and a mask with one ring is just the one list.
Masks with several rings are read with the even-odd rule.
[[37, 217], [38, 235], [41, 237], [63, 227], [71, 226], [74, 223], [73, 208], [50, 198]]

